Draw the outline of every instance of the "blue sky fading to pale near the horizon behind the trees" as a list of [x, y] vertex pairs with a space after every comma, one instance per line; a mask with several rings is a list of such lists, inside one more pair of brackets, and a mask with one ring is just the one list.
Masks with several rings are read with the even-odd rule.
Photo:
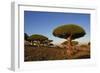
[[76, 39], [80, 43], [90, 41], [90, 14], [24, 11], [24, 32], [28, 35], [42, 34], [60, 44], [65, 41], [52, 35], [53, 29], [64, 24], [77, 24], [86, 31], [86, 35]]

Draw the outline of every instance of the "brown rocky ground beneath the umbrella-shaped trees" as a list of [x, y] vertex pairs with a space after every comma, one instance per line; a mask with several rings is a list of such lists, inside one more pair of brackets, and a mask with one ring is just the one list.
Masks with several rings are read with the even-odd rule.
[[64, 60], [64, 59], [87, 59], [90, 58], [88, 45], [76, 46], [74, 53], [68, 58], [66, 48], [61, 47], [34, 47], [25, 46], [25, 61]]

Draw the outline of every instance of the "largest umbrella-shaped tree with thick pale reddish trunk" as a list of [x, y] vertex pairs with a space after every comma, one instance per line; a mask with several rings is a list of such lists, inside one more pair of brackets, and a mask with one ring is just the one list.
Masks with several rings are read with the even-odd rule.
[[[53, 35], [59, 38], [67, 39], [68, 41], [68, 55], [72, 53], [72, 40], [80, 38], [85, 35], [85, 31], [82, 27], [75, 24], [66, 24], [59, 26], [53, 30]], [[67, 44], [66, 44], [67, 45]]]

